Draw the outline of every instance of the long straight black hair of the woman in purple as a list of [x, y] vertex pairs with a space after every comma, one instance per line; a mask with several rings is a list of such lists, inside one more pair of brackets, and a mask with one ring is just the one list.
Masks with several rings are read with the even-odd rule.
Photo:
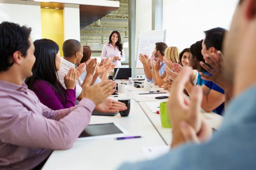
[[[49, 83], [50, 86], [61, 94], [65, 99], [65, 89], [60, 84], [58, 76], [56, 74], [56, 54], [59, 51], [57, 43], [50, 39], [38, 39], [34, 41], [36, 62], [32, 67], [33, 75], [26, 78], [25, 82], [28, 88], [31, 90], [36, 80], [44, 80]], [[46, 95], [47, 94], [43, 94]]]

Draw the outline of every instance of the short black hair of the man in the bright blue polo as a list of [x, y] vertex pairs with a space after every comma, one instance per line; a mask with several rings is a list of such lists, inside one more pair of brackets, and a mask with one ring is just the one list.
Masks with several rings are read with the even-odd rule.
[[214, 47], [215, 49], [222, 51], [222, 42], [226, 31], [226, 29], [221, 27], [204, 31], [204, 44], [206, 45], [206, 49], [208, 50], [210, 47]]

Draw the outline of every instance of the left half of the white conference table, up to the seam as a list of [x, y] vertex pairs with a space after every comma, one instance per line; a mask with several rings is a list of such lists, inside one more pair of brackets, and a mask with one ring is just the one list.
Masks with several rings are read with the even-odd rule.
[[129, 135], [142, 138], [115, 140], [94, 139], [76, 141], [71, 149], [54, 150], [42, 170], [115, 170], [124, 162], [145, 160], [141, 151], [147, 146], [166, 146], [138, 102], [131, 102], [128, 117], [92, 116], [90, 124], [114, 122], [128, 131]]

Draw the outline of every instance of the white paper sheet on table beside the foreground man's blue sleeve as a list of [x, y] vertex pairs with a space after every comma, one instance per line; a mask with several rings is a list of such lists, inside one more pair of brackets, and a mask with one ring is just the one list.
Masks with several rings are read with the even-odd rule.
[[153, 146], [153, 147], [142, 147], [141, 151], [147, 159], [155, 159], [163, 154], [168, 153], [170, 146]]

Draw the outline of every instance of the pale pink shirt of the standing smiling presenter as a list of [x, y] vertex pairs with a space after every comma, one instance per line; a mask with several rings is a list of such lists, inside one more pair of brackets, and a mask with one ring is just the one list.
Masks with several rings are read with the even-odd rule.
[[114, 49], [111, 43], [104, 45], [102, 48], [100, 59], [106, 59], [106, 57], [111, 58], [114, 56], [118, 56], [121, 58], [120, 61], [118, 60], [115, 63], [113, 63], [113, 64], [116, 64], [115, 68], [121, 68], [122, 67], [121, 61], [125, 61], [124, 49], [122, 50], [122, 55], [121, 55], [121, 52], [119, 51], [117, 46], [116, 46], [116, 49]]

